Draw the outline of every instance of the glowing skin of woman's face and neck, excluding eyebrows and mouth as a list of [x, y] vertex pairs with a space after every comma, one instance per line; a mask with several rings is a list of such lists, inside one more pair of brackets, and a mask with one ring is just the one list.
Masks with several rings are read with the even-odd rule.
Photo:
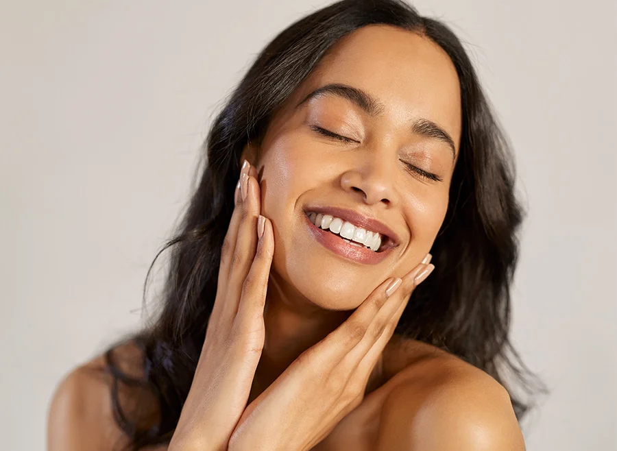
[[[379, 104], [371, 115], [317, 88], [344, 84]], [[302, 104], [298, 107], [298, 104]], [[454, 143], [411, 131], [433, 121]], [[352, 139], [343, 143], [314, 130]], [[431, 249], [448, 206], [461, 134], [455, 66], [435, 43], [383, 25], [337, 42], [273, 114], [260, 148], [243, 158], [257, 169], [261, 213], [274, 227], [274, 260], [264, 313], [266, 337], [251, 398], [301, 352], [334, 330], [383, 280], [402, 277]], [[437, 175], [423, 178], [408, 164]], [[350, 208], [385, 223], [400, 239], [376, 265], [342, 258], [306, 229], [306, 206]]]

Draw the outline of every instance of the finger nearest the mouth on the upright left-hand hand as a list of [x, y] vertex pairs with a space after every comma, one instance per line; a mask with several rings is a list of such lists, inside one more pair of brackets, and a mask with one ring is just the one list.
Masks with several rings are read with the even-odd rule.
[[258, 240], [255, 258], [242, 285], [236, 321], [245, 332], [252, 332], [254, 321], [263, 321], [263, 307], [268, 288], [270, 267], [274, 256], [272, 223], [263, 217], [263, 235]]

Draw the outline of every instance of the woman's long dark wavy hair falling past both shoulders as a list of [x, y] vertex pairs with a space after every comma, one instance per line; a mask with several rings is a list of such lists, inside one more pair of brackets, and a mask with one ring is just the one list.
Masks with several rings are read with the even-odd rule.
[[[130, 437], [130, 449], [171, 439], [186, 400], [215, 302], [221, 245], [234, 209], [240, 156], [261, 143], [273, 112], [343, 36], [372, 24], [392, 25], [437, 43], [456, 67], [462, 106], [460, 156], [450, 204], [431, 249], [435, 271], [418, 289], [396, 333], [436, 345], [486, 371], [511, 395], [520, 420], [523, 394], [535, 378], [509, 342], [509, 287], [518, 258], [522, 208], [514, 193], [513, 158], [461, 42], [444, 23], [420, 16], [400, 0], [343, 0], [283, 30], [258, 55], [210, 127], [203, 169], [182, 223], [154, 258], [171, 250], [162, 305], [155, 320], [128, 340], [143, 352], [143, 378], [122, 371], [114, 348], [106, 352], [113, 377], [112, 411]], [[201, 166], [201, 165], [200, 165]], [[121, 387], [145, 389], [158, 416], [143, 426], [136, 400], [121, 404]], [[513, 390], [518, 388], [518, 390]], [[518, 392], [518, 393], [516, 393]], [[529, 398], [527, 396], [526, 398]]]

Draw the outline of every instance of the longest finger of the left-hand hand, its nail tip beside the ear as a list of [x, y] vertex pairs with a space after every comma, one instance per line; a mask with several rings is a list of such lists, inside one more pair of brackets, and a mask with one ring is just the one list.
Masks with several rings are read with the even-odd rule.
[[244, 189], [245, 198], [242, 201], [236, 248], [230, 263], [226, 302], [223, 307], [226, 317], [235, 315], [238, 310], [242, 285], [251, 268], [257, 247], [256, 230], [257, 219], [261, 212], [261, 195], [254, 176], [247, 175]]

